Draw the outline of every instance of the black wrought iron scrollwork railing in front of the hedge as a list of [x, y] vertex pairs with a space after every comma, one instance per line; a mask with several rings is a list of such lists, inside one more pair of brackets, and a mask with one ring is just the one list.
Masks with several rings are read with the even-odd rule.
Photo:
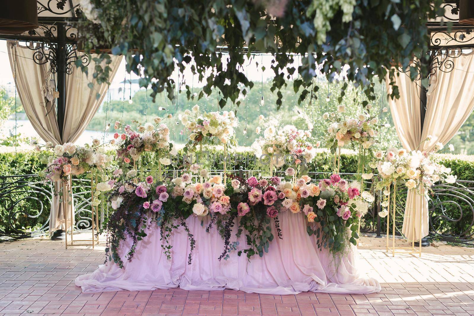
[[[173, 177], [182, 171], [171, 170], [166, 176]], [[223, 170], [212, 170], [211, 174], [222, 174]], [[239, 177], [262, 176], [268, 172], [259, 170], [228, 171]], [[283, 176], [283, 172], [276, 172]], [[328, 172], [309, 172], [312, 179], [327, 178]], [[348, 180], [356, 179], [354, 173], [341, 173]], [[365, 181], [365, 187], [371, 188]], [[91, 231], [91, 182], [87, 178], [73, 178], [73, 200], [75, 209], [74, 230]], [[386, 231], [385, 218], [380, 218], [381, 192], [371, 189], [375, 202], [361, 223], [361, 232], [378, 236]], [[399, 187], [397, 208], [402, 214], [403, 199], [407, 190]], [[0, 177], [0, 241], [48, 234], [49, 210], [53, 199], [53, 188], [36, 174]], [[109, 209], [99, 208], [100, 225], [108, 217]], [[474, 181], [456, 181], [455, 184], [438, 184], [432, 188], [429, 201], [430, 238], [460, 243], [474, 244]], [[397, 227], [401, 227], [402, 217], [397, 217]], [[400, 234], [400, 231], [398, 231]]]

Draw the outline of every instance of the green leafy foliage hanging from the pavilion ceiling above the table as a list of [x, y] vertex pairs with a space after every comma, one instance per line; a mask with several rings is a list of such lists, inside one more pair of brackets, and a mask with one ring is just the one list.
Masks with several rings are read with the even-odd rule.
[[[238, 105], [239, 94], [253, 87], [244, 70], [245, 56], [272, 54], [272, 91], [280, 107], [279, 89], [293, 77], [294, 90], [301, 91], [300, 102], [316, 98], [318, 85], [313, 78], [318, 67], [328, 81], [346, 71], [348, 80], [365, 87], [369, 100], [374, 98], [374, 77], [382, 80], [386, 75], [384, 66], [410, 69], [412, 79], [426, 72], [425, 63], [410, 66], [410, 62], [414, 57], [427, 58], [425, 23], [440, 13], [436, 11], [441, 2], [81, 0], [87, 21], [77, 27], [86, 50], [109, 46], [112, 54], [124, 54], [128, 72], [142, 76], [140, 85], [151, 83], [153, 98], [166, 90], [174, 99], [175, 67], [180, 72], [191, 67], [206, 85], [193, 96], [186, 82], [181, 82], [189, 99], [209, 95], [214, 87], [219, 90], [221, 107], [228, 101]], [[294, 54], [303, 56], [301, 64], [296, 65]], [[99, 57], [104, 58], [109, 57]], [[106, 69], [93, 71], [99, 81], [108, 79]], [[341, 99], [343, 95], [341, 91]], [[392, 97], [398, 97], [396, 87]]]

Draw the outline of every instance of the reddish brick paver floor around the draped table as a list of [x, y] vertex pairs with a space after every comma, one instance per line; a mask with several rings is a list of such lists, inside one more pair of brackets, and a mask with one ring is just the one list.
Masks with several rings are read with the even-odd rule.
[[263, 295], [240, 291], [119, 291], [84, 294], [78, 275], [103, 262], [103, 246], [64, 249], [49, 240], [0, 243], [0, 315], [474, 315], [474, 249], [440, 245], [421, 258], [385, 253], [362, 237], [359, 268], [380, 293]]

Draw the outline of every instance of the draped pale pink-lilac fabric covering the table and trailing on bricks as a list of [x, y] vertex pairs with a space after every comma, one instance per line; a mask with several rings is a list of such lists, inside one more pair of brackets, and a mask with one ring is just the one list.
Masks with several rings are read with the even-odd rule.
[[[377, 280], [360, 278], [356, 269], [357, 249], [351, 246], [343, 258], [334, 262], [328, 250], [319, 250], [316, 237], [306, 232], [303, 214], [283, 212], [279, 215], [283, 239], [275, 238], [263, 257], [237, 251], [228, 260], [218, 258], [224, 242], [213, 228], [206, 232], [208, 219], [201, 226], [201, 218], [191, 216], [186, 222], [196, 240], [192, 264], [188, 265], [190, 251], [188, 236], [182, 227], [173, 231], [170, 244], [172, 258], [168, 260], [161, 247], [160, 231], [156, 224], [147, 230], [147, 236], [137, 245], [131, 262], [125, 254], [130, 249], [130, 238], [120, 245], [125, 267], [109, 262], [92, 273], [76, 278], [75, 283], [84, 293], [118, 290], [154, 290], [180, 287], [186, 290], [235, 289], [262, 294], [297, 294], [314, 291], [326, 293], [368, 294], [381, 290]], [[272, 221], [273, 224], [273, 221]], [[236, 229], [237, 226], [234, 226]], [[232, 235], [231, 242], [235, 240]], [[238, 240], [237, 249], [245, 249], [245, 234]]]

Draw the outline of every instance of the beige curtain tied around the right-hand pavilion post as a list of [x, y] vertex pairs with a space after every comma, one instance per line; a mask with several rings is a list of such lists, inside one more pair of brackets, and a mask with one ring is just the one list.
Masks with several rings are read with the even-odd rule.
[[[422, 131], [419, 81], [408, 82], [410, 78], [402, 72], [395, 80], [401, 98], [390, 99], [389, 104], [397, 134], [407, 150], [429, 151], [438, 142], [447, 144], [473, 111], [474, 54], [447, 57], [444, 65], [452, 66], [453, 70], [447, 72], [443, 66], [430, 77]], [[387, 90], [390, 89], [388, 82], [386, 80]], [[428, 135], [432, 136], [431, 140], [423, 142]], [[428, 235], [428, 199], [424, 191], [411, 191], [407, 197], [402, 233], [408, 240], [419, 240]]]

